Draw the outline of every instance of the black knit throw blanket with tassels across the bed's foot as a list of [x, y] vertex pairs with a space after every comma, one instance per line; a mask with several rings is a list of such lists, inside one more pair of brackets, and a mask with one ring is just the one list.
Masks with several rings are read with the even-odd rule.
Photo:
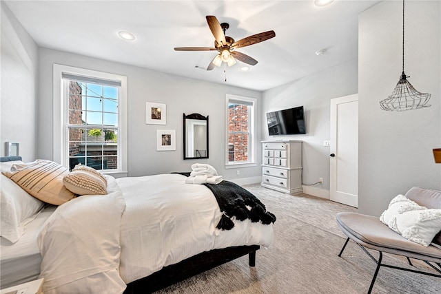
[[265, 209], [265, 205], [252, 193], [243, 189], [234, 182], [223, 180], [217, 185], [203, 184], [212, 190], [216, 198], [220, 211], [223, 215], [220, 218], [217, 229], [231, 230], [234, 227], [232, 218], [236, 220], [246, 220], [252, 222], [262, 222], [271, 224], [276, 221], [276, 216]]

